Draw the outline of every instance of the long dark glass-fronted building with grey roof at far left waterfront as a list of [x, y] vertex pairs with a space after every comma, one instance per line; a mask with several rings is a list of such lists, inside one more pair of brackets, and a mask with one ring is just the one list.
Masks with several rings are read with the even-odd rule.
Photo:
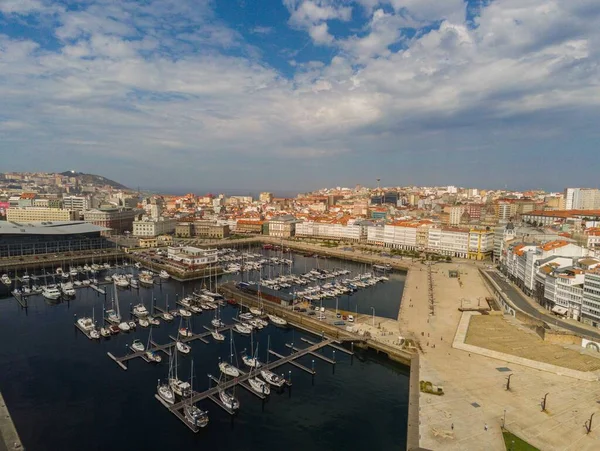
[[82, 221], [0, 221], [0, 257], [114, 248], [101, 236], [105, 230]]

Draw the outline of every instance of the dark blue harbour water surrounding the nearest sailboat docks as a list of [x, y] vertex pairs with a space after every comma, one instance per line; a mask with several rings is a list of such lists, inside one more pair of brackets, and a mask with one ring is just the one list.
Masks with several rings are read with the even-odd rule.
[[[391, 290], [389, 287], [394, 284], [382, 287], [386, 285]], [[142, 289], [140, 294], [149, 304], [153, 295], [161, 303], [167, 294], [174, 299], [175, 293], [181, 291], [179, 283], [169, 281], [154, 291]], [[2, 294], [6, 294], [3, 286]], [[395, 292], [393, 298], [399, 299], [400, 295]], [[366, 292], [363, 296], [368, 298]], [[119, 297], [123, 311], [138, 300], [138, 294], [130, 291], [120, 291]], [[209, 411], [210, 423], [200, 433], [193, 434], [154, 399], [157, 380], [167, 376], [166, 358], [158, 366], [135, 359], [130, 362], [129, 370], [123, 371], [106, 355], [107, 352], [125, 355], [127, 345], [135, 338], [146, 342], [148, 330], [138, 329], [94, 342], [75, 329], [74, 315], [91, 315], [95, 308], [99, 319], [103, 303], [104, 297], [90, 289], [80, 289], [76, 300], [54, 306], [46, 304], [40, 296], [30, 298], [27, 311], [12, 299], [0, 300], [0, 333], [4, 338], [0, 347], [0, 389], [27, 449], [284, 447], [325, 451], [388, 450], [405, 446], [408, 370], [377, 361], [370, 354], [357, 355], [351, 364], [349, 356], [336, 353], [335, 374], [331, 365], [317, 359], [314, 385], [313, 378], [301, 370], [289, 365], [280, 367], [277, 372], [285, 372], [286, 376], [292, 371], [291, 395], [288, 391], [272, 393], [263, 405], [239, 388], [236, 394], [241, 410], [233, 419], [210, 401], [203, 401], [200, 407]], [[232, 322], [235, 311], [230, 306], [223, 310], [226, 323]], [[202, 325], [208, 325], [211, 318], [208, 312], [195, 316], [193, 329], [202, 330]], [[163, 322], [153, 329], [153, 339], [165, 343], [177, 327], [178, 321]], [[293, 329], [269, 326], [255, 336], [263, 361], [267, 359], [268, 336], [271, 347], [281, 354], [289, 353], [285, 343], [294, 342], [302, 347], [306, 344], [301, 337], [315, 339]], [[250, 347], [247, 337], [234, 334], [234, 341], [238, 356]], [[195, 341], [191, 345], [194, 389], [203, 390], [208, 388], [207, 374], [218, 374], [219, 357], [227, 358], [229, 344], [206, 345]], [[325, 349], [324, 355], [332, 357], [332, 350]], [[191, 360], [192, 356], [180, 359], [182, 379], [190, 374]], [[304, 357], [300, 363], [310, 367], [312, 358]]]

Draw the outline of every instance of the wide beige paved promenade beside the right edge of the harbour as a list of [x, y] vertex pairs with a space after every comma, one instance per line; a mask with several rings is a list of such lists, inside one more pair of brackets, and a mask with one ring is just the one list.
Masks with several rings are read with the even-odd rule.
[[[600, 449], [600, 431], [586, 434], [584, 428], [590, 415], [600, 411], [598, 382], [452, 347], [462, 317], [461, 303], [476, 306], [489, 293], [474, 265], [460, 265], [460, 282], [448, 277], [449, 269], [458, 265], [433, 266], [434, 316], [429, 315], [425, 266], [411, 271], [399, 316], [404, 333], [421, 342], [420, 379], [443, 386], [445, 392], [444, 396], [421, 393], [420, 446], [504, 450], [501, 426], [506, 421], [511, 432], [542, 450]], [[507, 391], [509, 374], [513, 376]], [[547, 409], [542, 412], [546, 393]]]

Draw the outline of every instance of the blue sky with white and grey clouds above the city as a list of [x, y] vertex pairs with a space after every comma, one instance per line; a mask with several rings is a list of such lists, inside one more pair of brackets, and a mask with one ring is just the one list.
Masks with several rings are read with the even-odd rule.
[[598, 186], [598, 0], [0, 0], [0, 171]]

